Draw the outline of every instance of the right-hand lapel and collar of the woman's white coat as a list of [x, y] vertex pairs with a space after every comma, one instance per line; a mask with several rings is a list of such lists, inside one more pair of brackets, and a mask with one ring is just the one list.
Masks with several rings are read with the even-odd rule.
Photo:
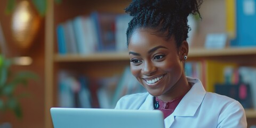
[[189, 83], [194, 85], [173, 111], [173, 116], [194, 116], [205, 97], [206, 92], [201, 81], [191, 77], [187, 77], [187, 79]]

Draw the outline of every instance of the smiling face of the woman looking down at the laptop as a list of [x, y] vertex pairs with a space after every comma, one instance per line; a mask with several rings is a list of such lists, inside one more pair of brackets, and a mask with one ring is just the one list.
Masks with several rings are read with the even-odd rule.
[[179, 90], [181, 77], [185, 76], [183, 56], [179, 55], [173, 37], [166, 41], [152, 32], [137, 29], [131, 36], [128, 46], [131, 72], [151, 95], [172, 95]]

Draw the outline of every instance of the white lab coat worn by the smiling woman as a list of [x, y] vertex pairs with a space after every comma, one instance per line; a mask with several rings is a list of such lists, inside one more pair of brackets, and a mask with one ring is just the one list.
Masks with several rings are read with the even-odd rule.
[[[187, 77], [194, 83], [173, 113], [164, 119], [165, 127], [247, 127], [242, 105], [231, 98], [206, 92], [199, 79]], [[125, 95], [115, 109], [154, 110], [149, 93]]]

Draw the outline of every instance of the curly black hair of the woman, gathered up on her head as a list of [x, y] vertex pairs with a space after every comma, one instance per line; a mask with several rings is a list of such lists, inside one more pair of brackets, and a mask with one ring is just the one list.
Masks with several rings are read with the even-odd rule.
[[174, 35], [177, 47], [188, 38], [189, 14], [199, 14], [202, 0], [133, 0], [126, 7], [133, 19], [126, 31], [127, 45], [133, 31], [137, 28], [150, 28], [166, 40]]

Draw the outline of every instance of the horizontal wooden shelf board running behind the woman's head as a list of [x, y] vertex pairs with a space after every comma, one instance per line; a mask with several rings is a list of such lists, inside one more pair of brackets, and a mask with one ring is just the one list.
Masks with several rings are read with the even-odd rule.
[[[190, 58], [201, 57], [223, 57], [228, 55], [254, 55], [256, 54], [256, 47], [246, 48], [227, 48], [227, 49], [190, 49]], [[60, 55], [55, 54], [55, 62], [86, 62], [86, 61], [120, 61], [129, 60], [127, 52], [103, 52], [93, 53], [89, 55], [79, 54], [67, 54]]]

